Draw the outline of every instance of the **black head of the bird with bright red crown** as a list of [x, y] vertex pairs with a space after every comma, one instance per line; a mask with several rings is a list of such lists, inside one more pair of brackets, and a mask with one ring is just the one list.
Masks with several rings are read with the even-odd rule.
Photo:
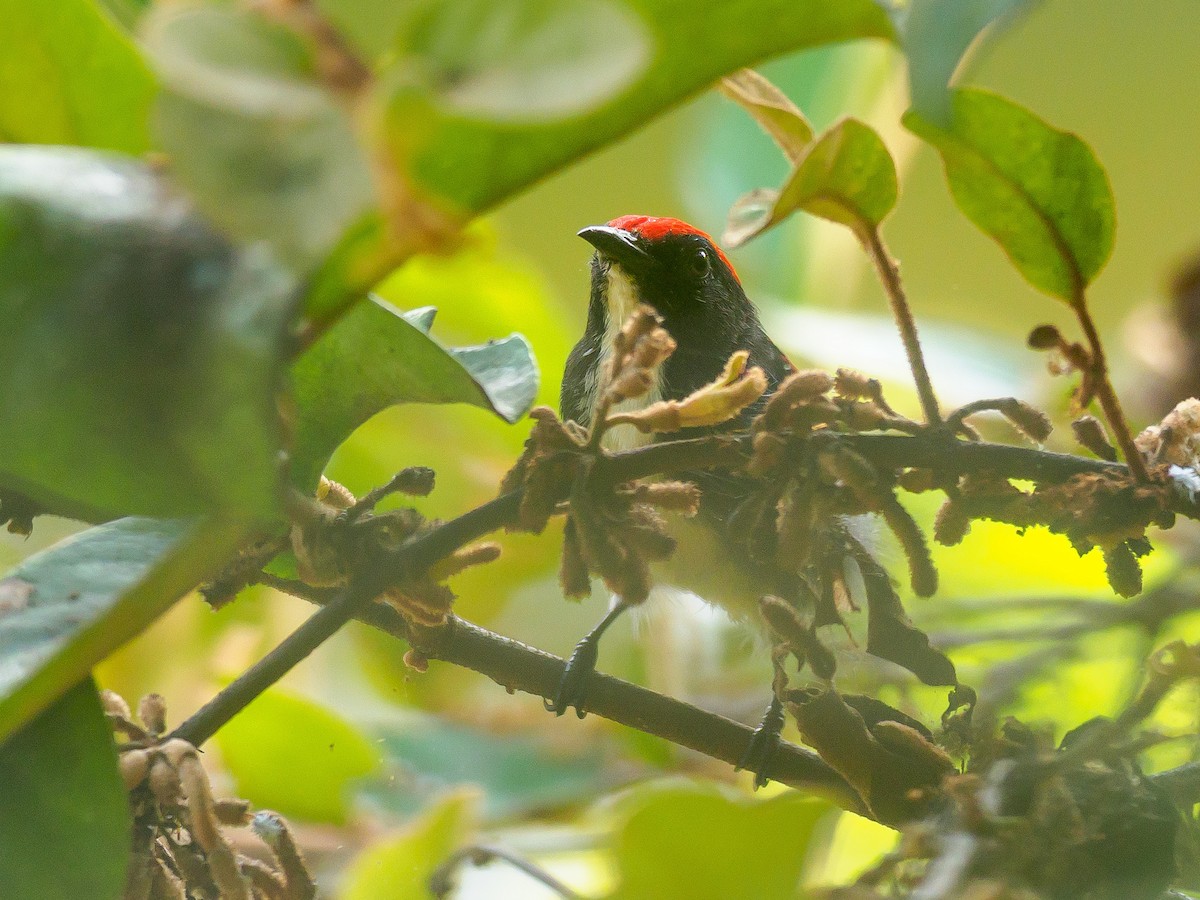
[[622, 216], [580, 236], [596, 250], [592, 300], [610, 322], [624, 322], [642, 302], [674, 334], [702, 323], [733, 325], [751, 308], [721, 248], [678, 218]]

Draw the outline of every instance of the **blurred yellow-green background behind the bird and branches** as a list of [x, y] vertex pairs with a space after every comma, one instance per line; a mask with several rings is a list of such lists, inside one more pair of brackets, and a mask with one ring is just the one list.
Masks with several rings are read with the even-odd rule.
[[[1050, 0], [1006, 28], [966, 67], [966, 82], [1081, 134], [1108, 168], [1117, 199], [1117, 245], [1092, 302], [1138, 428], [1177, 400], [1160, 390], [1150, 364], [1162, 356], [1152, 325], [1162, 317], [1170, 277], [1200, 252], [1198, 47], [1194, 0], [1136, 6]], [[1042, 322], [1073, 334], [1072, 317], [1030, 288], [959, 215], [934, 151], [900, 128], [907, 106], [901, 54], [882, 43], [854, 43], [775, 60], [762, 71], [818, 128], [841, 115], [863, 118], [895, 155], [901, 198], [884, 233], [900, 260], [943, 402], [1012, 394], [1057, 410], [1064, 426], [1069, 379], [1051, 379], [1042, 358], [1025, 349], [1024, 336]], [[379, 293], [402, 307], [439, 307], [436, 334], [446, 343], [523, 332], [541, 366], [540, 400], [557, 406], [562, 366], [586, 311], [589, 248], [575, 233], [618, 215], [652, 214], [678, 216], [719, 235], [731, 203], [745, 191], [778, 184], [785, 169], [778, 150], [739, 108], [708, 94], [524, 192], [473, 226], [461, 252], [415, 259]], [[878, 376], [893, 402], [913, 408], [882, 292], [845, 229], [793, 218], [731, 256], [769, 330], [797, 361], [850, 365]], [[996, 434], [1014, 439], [1002, 430]], [[420, 506], [449, 517], [494, 496], [524, 437], [523, 426], [505, 426], [479, 409], [395, 408], [365, 425], [328, 474], [361, 493], [402, 467], [432, 466], [438, 487]], [[1069, 448], [1069, 430], [1060, 428], [1051, 440]], [[450, 455], [446, 448], [470, 450]], [[917, 497], [910, 505], [928, 522], [936, 500]], [[40, 521], [28, 540], [4, 535], [0, 563], [7, 568], [74, 528]], [[498, 563], [455, 581], [456, 611], [568, 653], [600, 617], [606, 598], [596, 590], [580, 605], [562, 599], [553, 535], [500, 540]], [[1150, 581], [1187, 563], [1194, 540], [1190, 528], [1172, 533], [1150, 560]], [[910, 602], [910, 612], [935, 641], [941, 635], [953, 648], [968, 683], [992, 683], [988, 674], [1000, 660], [1027, 659], [1032, 678], [1026, 684], [1008, 695], [1003, 683], [996, 688], [1007, 712], [1070, 727], [1112, 713], [1136, 688], [1150, 642], [1133, 630], [1078, 642], [978, 640], [997, 626], [1044, 629], [1062, 611], [1018, 606], [1015, 598], [1117, 602], [1097, 554], [1079, 559], [1062, 538], [1018, 538], [1013, 529], [977, 526], [960, 547], [938, 548], [936, 558], [942, 589], [932, 600]], [[970, 602], [979, 599], [988, 602]], [[108, 660], [98, 677], [130, 698], [164, 694], [179, 721], [310, 612], [304, 602], [266, 589], [248, 592], [218, 613], [188, 599]], [[1194, 618], [1174, 625], [1192, 640], [1198, 626]], [[942, 691], [869, 660], [850, 637], [836, 643], [846, 689], [878, 690], [926, 721], [941, 712]], [[594, 716], [554, 719], [539, 698], [509, 696], [452, 666], [409, 671], [402, 654], [390, 638], [350, 629], [239, 716], [208, 755], [220, 788], [277, 809], [300, 826], [323, 883], [343, 896], [407, 896], [404, 883], [420, 896], [430, 860], [468, 836], [504, 842], [587, 892], [611, 887], [619, 859], [631, 896], [654, 895], [654, 884], [646, 875], [649, 881], [637, 888], [630, 875], [637, 871], [638, 846], [630, 835], [652, 827], [670, 846], [688, 816], [714, 816], [714, 841], [726, 827], [750, 836], [742, 846], [746, 856], [772, 852], [761, 842], [767, 838], [756, 835], [778, 833], [779, 822], [788, 822], [797, 842], [809, 840], [804, 878], [810, 883], [848, 877], [890, 840], [884, 829], [820, 804], [764, 799], [778, 791], [761, 792], [745, 805], [749, 780], [724, 766]], [[678, 598], [659, 600], [636, 623], [622, 622], [602, 648], [600, 667], [748, 722], [756, 721], [769, 690], [756, 638]], [[1196, 700], [1190, 690], [1175, 695], [1158, 724], [1194, 733]], [[1195, 750], [1194, 742], [1176, 740], [1152, 758], [1176, 764]], [[728, 791], [667, 782], [613, 798], [630, 785], [678, 775], [725, 782]], [[664, 805], [664, 797], [674, 799]], [[745, 821], [733, 827], [730, 816]], [[704, 883], [702, 869], [691, 871]], [[772, 895], [768, 886], [760, 889], [766, 893], [757, 895]], [[540, 895], [521, 876], [496, 866], [468, 874], [457, 894]]]

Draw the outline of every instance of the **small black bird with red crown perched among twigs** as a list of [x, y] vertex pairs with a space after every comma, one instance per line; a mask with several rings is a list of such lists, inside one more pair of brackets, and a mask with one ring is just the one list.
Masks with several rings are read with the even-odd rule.
[[[587, 325], [563, 372], [562, 418], [584, 428], [592, 425], [590, 416], [613, 337], [625, 319], [640, 305], [646, 305], [661, 318], [661, 325], [674, 340], [676, 349], [658, 367], [656, 382], [650, 390], [641, 397], [623, 401], [613, 412], [630, 412], [662, 400], [682, 400], [713, 382], [730, 356], [743, 350], [749, 354], [748, 367], [757, 366], [766, 376], [767, 391], [762, 398], [719, 426], [685, 430], [666, 437], [678, 439], [749, 428], [767, 397], [796, 370], [767, 335], [737, 271], [716, 241], [678, 218], [641, 215], [620, 216], [606, 224], [589, 226], [580, 230], [578, 236], [594, 248], [590, 295]], [[605, 433], [601, 446], [620, 451], [655, 439], [656, 436], [642, 433], [630, 425], [617, 425]], [[688, 527], [690, 539], [680, 540], [680, 548], [674, 554], [674, 571], [666, 576], [668, 583], [726, 608], [734, 618], [757, 614], [757, 599], [769, 593], [772, 586], [764, 584], [756, 572], [750, 571], [750, 560], [707, 564], [722, 556], [721, 548], [727, 541], [722, 539], [721, 529], [739, 498], [745, 497], [745, 476], [704, 472], [685, 478], [701, 488], [700, 515]], [[688, 577], [680, 577], [680, 571]], [[691, 583], [679, 583], [682, 581]], [[582, 718], [581, 703], [586, 679], [595, 665], [596, 643], [622, 610], [622, 604], [614, 599], [608, 614], [580, 642], [554, 701], [547, 702], [548, 709], [562, 715], [574, 704]], [[778, 721], [768, 727], [768, 719]], [[778, 742], [781, 725], [782, 713], [778, 700], [773, 700], [760, 732], [774, 728], [774, 740]], [[766, 734], [762, 743], [769, 745], [770, 740], [772, 736]], [[748, 754], [755, 750], [752, 746]], [[757, 751], [758, 755], [769, 752], [763, 748]], [[761, 764], [758, 773], [761, 779]]]

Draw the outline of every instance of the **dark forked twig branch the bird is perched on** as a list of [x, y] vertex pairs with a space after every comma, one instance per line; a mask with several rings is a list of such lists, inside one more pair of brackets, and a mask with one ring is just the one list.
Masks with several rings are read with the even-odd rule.
[[[1003, 444], [964, 442], [937, 433], [900, 436], [830, 432], [827, 436], [815, 437], [818, 440], [845, 442], [862, 456], [887, 468], [932, 468], [946, 474], [989, 470], [1006, 478], [1050, 482], [1066, 481], [1072, 475], [1084, 472], [1126, 470], [1126, 467], [1118, 463]], [[596, 469], [604, 478], [624, 481], [653, 474], [731, 466], [749, 449], [749, 436], [668, 442], [601, 457]], [[378, 611], [382, 608], [373, 604], [374, 598], [390, 586], [422, 574], [469, 541], [514, 523], [520, 504], [520, 491], [503, 494], [432, 528], [395, 551], [382, 553], [371, 564], [361, 566], [348, 587], [337, 592], [328, 605], [182, 722], [172, 737], [181, 738], [196, 746], [203, 744], [224, 722], [352, 618], [361, 617], [380, 626], [378, 619], [372, 620], [373, 617], [378, 617]], [[1180, 506], [1181, 514], [1200, 517], [1200, 509], [1194, 504], [1186, 503], [1181, 498], [1176, 505]], [[544, 697], [551, 696], [562, 676], [563, 666], [563, 661], [556, 656], [526, 648], [462, 622], [445, 629], [437, 646], [427, 655], [466, 665], [488, 674], [505, 686], [527, 690]], [[709, 714], [605, 676], [595, 676], [595, 683], [589, 688], [589, 709], [598, 715], [648, 733], [660, 734], [668, 740], [734, 764], [749, 739], [749, 730], [745, 726], [719, 716], [697, 719], [697, 715]], [[626, 708], [626, 704], [631, 706]], [[700, 721], [704, 722], [703, 727], [697, 727]], [[834, 784], [834, 779], [840, 780], [836, 775], [830, 778], [832, 769], [821, 769], [818, 774], [814, 768], [814, 761], [820, 762], [817, 757], [796, 748], [794, 754], [780, 754], [778, 764], [772, 768], [769, 775], [785, 784], [804, 784], [808, 787], [812, 786], [810, 782], [818, 782], [822, 778], [827, 779], [829, 785]], [[824, 763], [821, 766], [824, 767]]]

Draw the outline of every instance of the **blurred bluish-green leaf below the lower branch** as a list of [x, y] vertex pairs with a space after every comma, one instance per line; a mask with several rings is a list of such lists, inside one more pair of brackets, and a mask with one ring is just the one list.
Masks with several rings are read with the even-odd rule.
[[484, 794], [484, 817], [515, 820], [583, 802], [612, 782], [600, 746], [563, 755], [544, 740], [493, 734], [420, 713], [373, 733], [390, 767], [402, 775], [370, 782], [364, 793], [376, 809], [394, 816], [414, 815], [450, 787], [475, 785]]

